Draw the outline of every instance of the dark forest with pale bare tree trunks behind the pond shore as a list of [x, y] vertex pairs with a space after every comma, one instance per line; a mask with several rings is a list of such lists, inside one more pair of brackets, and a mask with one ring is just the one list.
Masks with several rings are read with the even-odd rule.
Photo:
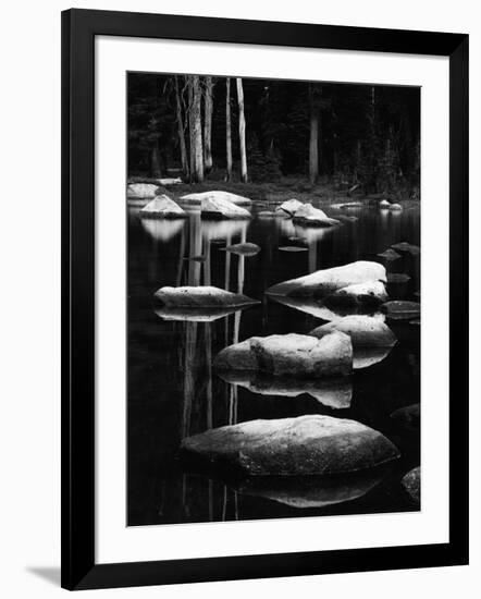
[[419, 88], [145, 73], [127, 87], [131, 180], [419, 197]]

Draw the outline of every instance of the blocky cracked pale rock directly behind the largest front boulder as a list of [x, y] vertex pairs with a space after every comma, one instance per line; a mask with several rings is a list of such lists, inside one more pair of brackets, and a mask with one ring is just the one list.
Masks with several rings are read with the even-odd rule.
[[224, 347], [215, 356], [219, 370], [259, 370], [275, 376], [333, 377], [353, 370], [348, 335], [333, 332], [322, 339], [288, 333], [252, 337]]

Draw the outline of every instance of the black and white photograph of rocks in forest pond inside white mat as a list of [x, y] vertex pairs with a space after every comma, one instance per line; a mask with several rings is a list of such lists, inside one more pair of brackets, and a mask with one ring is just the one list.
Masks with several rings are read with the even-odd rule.
[[420, 510], [420, 88], [126, 108], [127, 525]]

